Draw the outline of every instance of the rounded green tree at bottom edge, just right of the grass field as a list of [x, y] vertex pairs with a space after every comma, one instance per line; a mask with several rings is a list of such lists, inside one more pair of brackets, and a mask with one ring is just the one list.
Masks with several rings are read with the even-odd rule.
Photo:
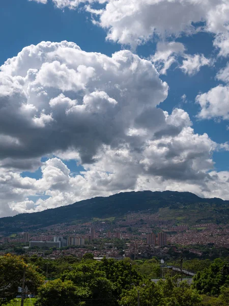
[[62, 282], [60, 278], [47, 282], [38, 290], [36, 306], [79, 305], [76, 289], [71, 281]]

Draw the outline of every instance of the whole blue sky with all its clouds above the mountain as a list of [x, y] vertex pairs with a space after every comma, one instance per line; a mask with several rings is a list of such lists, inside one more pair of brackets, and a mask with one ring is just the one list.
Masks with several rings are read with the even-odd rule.
[[227, 0], [1, 0], [0, 39], [0, 217], [229, 200]]

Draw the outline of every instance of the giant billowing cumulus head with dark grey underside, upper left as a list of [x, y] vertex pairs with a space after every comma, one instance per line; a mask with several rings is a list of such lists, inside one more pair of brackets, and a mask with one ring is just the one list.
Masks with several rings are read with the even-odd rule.
[[0, 157], [74, 147], [82, 162], [102, 144], [132, 141], [126, 131], [145, 124], [168, 88], [150, 61], [130, 51], [109, 58], [67, 42], [25, 47], [1, 67], [0, 80], [1, 132], [10, 137], [0, 138]]

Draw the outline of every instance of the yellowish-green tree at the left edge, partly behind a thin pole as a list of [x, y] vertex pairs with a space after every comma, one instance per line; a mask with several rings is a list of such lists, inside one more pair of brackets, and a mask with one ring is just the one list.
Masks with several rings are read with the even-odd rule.
[[25, 267], [25, 286], [36, 293], [37, 288], [44, 282], [44, 278], [36, 271], [32, 264], [26, 264], [19, 256], [7, 254], [0, 257], [0, 305], [6, 304], [17, 294], [22, 285], [23, 270]]

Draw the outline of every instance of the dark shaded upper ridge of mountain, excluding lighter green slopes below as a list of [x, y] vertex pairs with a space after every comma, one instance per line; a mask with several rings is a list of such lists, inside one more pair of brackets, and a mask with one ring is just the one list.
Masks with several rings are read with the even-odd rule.
[[[203, 203], [229, 214], [229, 201], [220, 198], [201, 198], [191, 192], [179, 191], [130, 191], [120, 192], [108, 197], [94, 197], [70, 205], [47, 209], [36, 213], [23, 213], [0, 218], [0, 231], [15, 232], [23, 228], [36, 229], [57, 223], [90, 220], [93, 218], [120, 217], [128, 212], [149, 210], [152, 214], [169, 207], [201, 206]], [[223, 217], [222, 217], [223, 218]], [[222, 219], [221, 218], [221, 219]], [[220, 220], [219, 220], [220, 221]]]

